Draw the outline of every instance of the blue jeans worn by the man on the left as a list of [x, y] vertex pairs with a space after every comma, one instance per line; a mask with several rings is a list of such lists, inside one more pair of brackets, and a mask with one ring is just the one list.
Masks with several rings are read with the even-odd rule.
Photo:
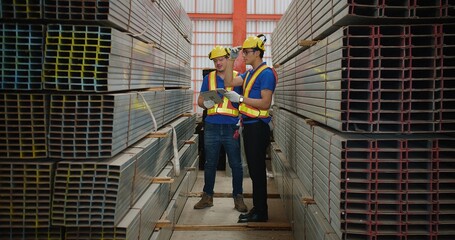
[[235, 124], [204, 123], [204, 192], [208, 195], [213, 195], [221, 145], [226, 151], [229, 166], [232, 169], [232, 196], [243, 194], [240, 140], [233, 137], [237, 129], [238, 127]]

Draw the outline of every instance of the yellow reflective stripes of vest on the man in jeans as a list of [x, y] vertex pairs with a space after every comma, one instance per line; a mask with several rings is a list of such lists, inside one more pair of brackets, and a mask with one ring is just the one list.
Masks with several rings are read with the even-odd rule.
[[[233, 71], [233, 75], [237, 76], [237, 72]], [[209, 73], [209, 90], [216, 90], [216, 71]], [[227, 91], [232, 91], [233, 87], [225, 87]], [[227, 97], [223, 96], [223, 101], [219, 104], [215, 104], [213, 107], [207, 110], [207, 115], [221, 114], [225, 116], [237, 117], [239, 115], [239, 110], [232, 106], [231, 101]]]

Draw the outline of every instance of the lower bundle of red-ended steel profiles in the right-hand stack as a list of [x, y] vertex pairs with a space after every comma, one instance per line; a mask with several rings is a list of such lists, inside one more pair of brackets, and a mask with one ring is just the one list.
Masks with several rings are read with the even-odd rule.
[[[274, 112], [281, 120], [301, 118], [282, 109]], [[450, 194], [455, 191], [451, 184], [455, 171], [453, 138], [442, 134], [347, 134], [305, 121], [300, 124], [311, 129], [310, 136], [297, 129], [276, 128], [278, 132], [293, 130], [302, 135], [306, 145], [313, 146], [304, 163], [311, 173], [298, 175], [305, 191], [294, 194], [300, 200], [314, 200], [312, 207], [319, 208], [314, 211], [322, 214], [339, 238], [414, 235], [449, 239], [455, 234], [450, 227], [454, 223], [449, 220], [455, 214], [451, 207], [455, 198]], [[277, 142], [281, 145], [283, 140]], [[297, 146], [295, 151], [299, 148], [303, 147]], [[289, 174], [279, 169], [275, 167], [282, 172], [278, 176]], [[296, 219], [300, 213], [295, 212], [295, 221], [306, 228], [304, 220]]]

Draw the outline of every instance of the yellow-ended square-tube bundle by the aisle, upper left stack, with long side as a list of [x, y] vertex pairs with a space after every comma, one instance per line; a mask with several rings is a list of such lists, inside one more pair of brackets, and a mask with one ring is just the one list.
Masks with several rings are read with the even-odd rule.
[[112, 92], [167, 85], [159, 50], [113, 28], [48, 25], [46, 40], [47, 90]]

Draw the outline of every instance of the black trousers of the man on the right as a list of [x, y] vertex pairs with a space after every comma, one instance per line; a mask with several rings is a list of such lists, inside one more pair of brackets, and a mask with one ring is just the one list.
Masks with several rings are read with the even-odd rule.
[[263, 121], [243, 125], [243, 140], [248, 171], [253, 182], [253, 207], [256, 212], [267, 214], [267, 146], [270, 128]]

